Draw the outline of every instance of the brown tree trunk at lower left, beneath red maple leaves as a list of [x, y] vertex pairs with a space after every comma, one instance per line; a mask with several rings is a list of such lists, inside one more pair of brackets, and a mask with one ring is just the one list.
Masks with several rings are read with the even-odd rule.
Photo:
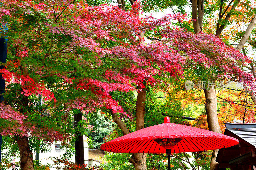
[[20, 150], [20, 169], [34, 170], [33, 153], [29, 148], [28, 137], [15, 136]]

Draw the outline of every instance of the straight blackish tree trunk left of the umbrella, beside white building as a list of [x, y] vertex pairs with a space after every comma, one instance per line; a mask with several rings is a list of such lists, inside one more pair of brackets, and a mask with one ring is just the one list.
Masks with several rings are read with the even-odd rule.
[[[76, 128], [78, 122], [82, 120], [82, 113], [77, 113], [74, 115], [74, 127]], [[84, 164], [84, 137], [79, 132], [76, 131], [76, 141], [75, 141], [75, 152], [76, 152], [76, 164], [83, 165]]]

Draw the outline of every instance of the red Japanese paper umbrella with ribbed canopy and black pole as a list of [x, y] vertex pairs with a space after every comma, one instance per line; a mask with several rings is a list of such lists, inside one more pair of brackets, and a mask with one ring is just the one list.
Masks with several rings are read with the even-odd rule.
[[166, 153], [168, 169], [170, 154], [227, 148], [239, 144], [236, 138], [205, 129], [170, 122], [137, 130], [101, 145], [101, 150], [118, 153]]

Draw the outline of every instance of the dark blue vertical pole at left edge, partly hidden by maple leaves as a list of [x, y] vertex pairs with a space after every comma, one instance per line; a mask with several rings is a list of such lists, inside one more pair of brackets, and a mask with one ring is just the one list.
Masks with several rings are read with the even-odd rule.
[[[6, 57], [7, 57], [7, 39], [4, 37], [0, 37], [0, 62], [6, 63]], [[3, 65], [0, 65], [0, 69], [4, 69]], [[5, 80], [0, 75], [0, 101], [4, 101], [4, 88], [5, 88]], [[0, 169], [1, 169], [1, 152], [2, 152], [2, 135], [0, 135]]]

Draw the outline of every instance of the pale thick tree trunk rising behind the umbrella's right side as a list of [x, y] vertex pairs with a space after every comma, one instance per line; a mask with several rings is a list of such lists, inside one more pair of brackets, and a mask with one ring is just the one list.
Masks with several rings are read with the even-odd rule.
[[[214, 86], [210, 86], [209, 89], [204, 89], [205, 94], [205, 110], [208, 122], [209, 130], [217, 133], [221, 133], [218, 115], [217, 115], [217, 96], [216, 90]], [[218, 150], [213, 150], [210, 169], [217, 169], [218, 162], [216, 162]]]

